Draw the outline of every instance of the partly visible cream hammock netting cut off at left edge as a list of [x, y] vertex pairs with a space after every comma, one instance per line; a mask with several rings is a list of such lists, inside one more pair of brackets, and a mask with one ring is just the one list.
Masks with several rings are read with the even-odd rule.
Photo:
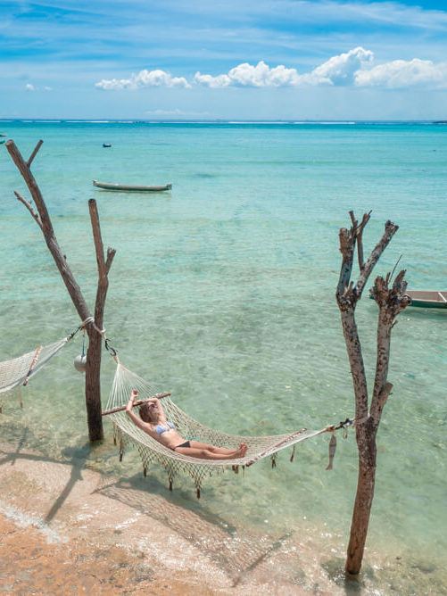
[[69, 340], [70, 337], [64, 337], [54, 344], [40, 345], [32, 352], [0, 362], [0, 393], [11, 391], [18, 385], [26, 385]]

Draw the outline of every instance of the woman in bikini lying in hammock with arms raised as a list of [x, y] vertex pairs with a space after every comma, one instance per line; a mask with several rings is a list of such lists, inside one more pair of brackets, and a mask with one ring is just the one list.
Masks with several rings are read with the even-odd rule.
[[239, 449], [226, 449], [225, 447], [216, 447], [208, 443], [199, 443], [198, 441], [185, 441], [185, 439], [178, 434], [176, 427], [170, 420], [166, 419], [166, 415], [161, 406], [160, 400], [156, 397], [145, 401], [140, 406], [139, 418], [132, 411], [134, 401], [137, 399], [137, 389], [132, 389], [130, 399], [126, 406], [126, 412], [129, 418], [165, 447], [169, 447], [172, 451], [189, 455], [191, 458], [200, 459], [238, 459], [243, 458], [247, 451], [245, 443], [239, 445]]

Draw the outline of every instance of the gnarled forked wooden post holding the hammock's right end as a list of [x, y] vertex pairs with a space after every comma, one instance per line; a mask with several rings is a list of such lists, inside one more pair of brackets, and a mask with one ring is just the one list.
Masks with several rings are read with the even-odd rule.
[[[377, 277], [371, 293], [379, 307], [377, 322], [377, 362], [376, 378], [370, 404], [368, 403], [368, 386], [361, 354], [360, 337], [355, 321], [355, 307], [368, 282], [382, 252], [398, 230], [391, 221], [385, 223], [382, 238], [371, 252], [368, 261], [363, 261], [362, 233], [368, 223], [370, 212], [366, 213], [361, 223], [350, 211], [352, 228], [342, 228], [339, 234], [342, 265], [336, 289], [336, 301], [340, 309], [344, 341], [352, 373], [352, 384], [355, 394], [356, 441], [359, 451], [359, 475], [357, 493], [352, 513], [351, 535], [348, 545], [345, 570], [348, 574], [360, 573], [365, 543], [368, 534], [369, 517], [376, 481], [376, 435], [382, 410], [393, 388], [387, 381], [390, 357], [391, 330], [399, 312], [410, 304], [405, 294], [407, 283], [402, 270], [391, 284], [391, 274], [385, 279]], [[357, 283], [351, 280], [355, 246], [359, 261], [360, 277]]]

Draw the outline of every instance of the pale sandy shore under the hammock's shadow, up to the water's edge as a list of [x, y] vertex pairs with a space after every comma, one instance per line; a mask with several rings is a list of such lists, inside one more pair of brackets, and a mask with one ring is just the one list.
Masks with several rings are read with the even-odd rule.
[[0, 445], [0, 592], [309, 593], [283, 573], [288, 536], [228, 534], [138, 482]]

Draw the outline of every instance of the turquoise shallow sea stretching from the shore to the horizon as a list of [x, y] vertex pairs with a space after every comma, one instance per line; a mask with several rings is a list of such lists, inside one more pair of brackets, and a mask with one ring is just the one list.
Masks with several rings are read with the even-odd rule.
[[[402, 255], [410, 288], [447, 289], [447, 126], [2, 121], [0, 132], [26, 157], [44, 140], [33, 171], [91, 305], [96, 266], [87, 200], [96, 199], [104, 244], [117, 251], [107, 335], [128, 368], [172, 391], [208, 426], [279, 434], [352, 416], [335, 302], [338, 230], [350, 225], [348, 211], [361, 217], [372, 210], [366, 253], [386, 219], [400, 226], [375, 274], [392, 270]], [[93, 178], [173, 188], [113, 194], [95, 189]], [[79, 324], [15, 189], [27, 194], [0, 145], [0, 360]], [[357, 319], [372, 387], [377, 307], [368, 293]], [[137, 454], [129, 451], [119, 463], [108, 422], [103, 445], [87, 444], [83, 377], [72, 366], [80, 349], [79, 337], [33, 379], [23, 390], [23, 410], [14, 396], [2, 399], [2, 441], [48, 459], [84, 459], [132, 481], [141, 475]], [[103, 403], [112, 376], [104, 352]], [[364, 590], [447, 593], [447, 311], [401, 314], [389, 380]], [[342, 582], [357, 449], [353, 433], [340, 437], [328, 472], [327, 443], [322, 436], [300, 444], [292, 464], [283, 452], [276, 469], [265, 461], [244, 478], [212, 479], [199, 504], [188, 478], [170, 494], [154, 470], [141, 487], [216, 525], [272, 541], [307, 533], [318, 546], [321, 574]], [[298, 575], [296, 583], [310, 589]]]

